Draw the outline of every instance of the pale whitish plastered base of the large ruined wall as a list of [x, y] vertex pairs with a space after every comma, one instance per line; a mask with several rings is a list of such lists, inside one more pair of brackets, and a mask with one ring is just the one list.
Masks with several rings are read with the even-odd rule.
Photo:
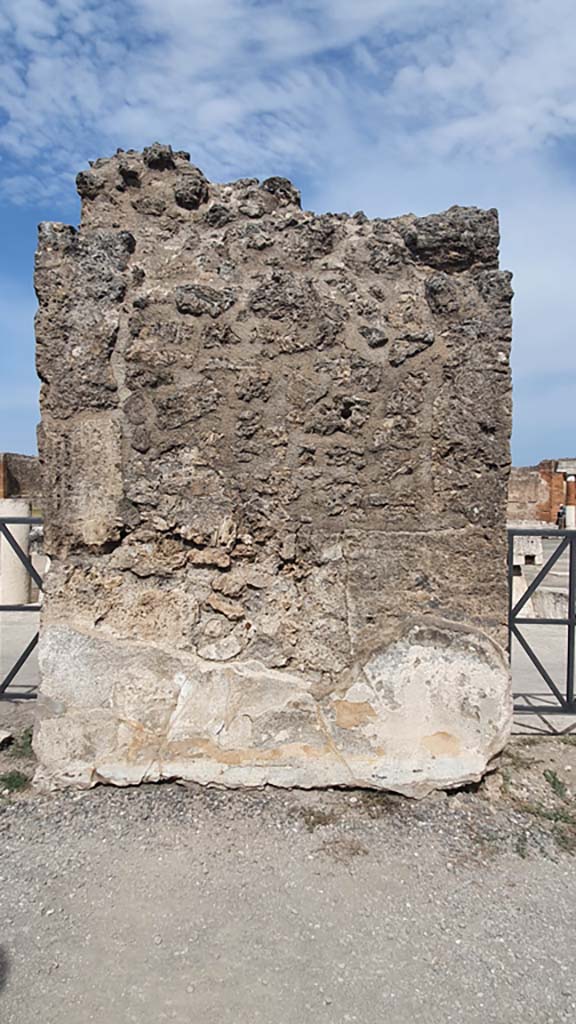
[[367, 786], [422, 797], [479, 780], [511, 724], [504, 652], [478, 631], [412, 626], [337, 692], [257, 662], [214, 662], [48, 626], [37, 782]]

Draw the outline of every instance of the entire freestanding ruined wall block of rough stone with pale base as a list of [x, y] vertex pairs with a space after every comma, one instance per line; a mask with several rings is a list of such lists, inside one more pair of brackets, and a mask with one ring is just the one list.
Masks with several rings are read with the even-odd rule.
[[40, 225], [38, 779], [479, 779], [510, 726], [495, 210], [300, 209], [184, 153]]

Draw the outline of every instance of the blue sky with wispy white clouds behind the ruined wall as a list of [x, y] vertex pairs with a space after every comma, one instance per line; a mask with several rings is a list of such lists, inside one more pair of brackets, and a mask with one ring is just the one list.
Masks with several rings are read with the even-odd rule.
[[517, 464], [576, 454], [574, 0], [2, 0], [0, 451], [33, 452], [39, 220], [117, 146], [317, 211], [497, 206]]

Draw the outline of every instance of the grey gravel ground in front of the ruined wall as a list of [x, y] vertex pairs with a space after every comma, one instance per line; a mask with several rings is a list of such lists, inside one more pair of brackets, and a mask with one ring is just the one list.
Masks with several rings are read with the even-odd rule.
[[[576, 1019], [576, 745], [516, 739], [421, 802], [191, 785], [13, 790], [2, 1024]], [[13, 781], [13, 779], [12, 779]]]

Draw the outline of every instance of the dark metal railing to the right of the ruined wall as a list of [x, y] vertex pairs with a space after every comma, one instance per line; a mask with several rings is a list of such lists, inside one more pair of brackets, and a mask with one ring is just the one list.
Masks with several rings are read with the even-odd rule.
[[[518, 601], [513, 600], [513, 575], [515, 575], [515, 538], [536, 537], [552, 538], [558, 541], [558, 546], [552, 554], [544, 561], [542, 567], [528, 585], [525, 592]], [[568, 614], [566, 617], [548, 618], [537, 615], [522, 614], [531, 597], [534, 596], [538, 588], [543, 583], [553, 565], [565, 552], [568, 553]], [[566, 626], [566, 676], [564, 680], [564, 692], [561, 690], [560, 680], [554, 681], [547, 669], [536, 654], [535, 650], [522, 633], [521, 626]], [[508, 649], [511, 655], [512, 638], [518, 640], [524, 652], [528, 655], [534, 668], [538, 671], [548, 688], [558, 700], [558, 707], [537, 708], [526, 706], [517, 708], [519, 711], [545, 711], [546, 714], [570, 713], [576, 714], [576, 701], [574, 699], [574, 663], [575, 663], [575, 639], [576, 639], [576, 529], [537, 529], [510, 527], [508, 529]]]

